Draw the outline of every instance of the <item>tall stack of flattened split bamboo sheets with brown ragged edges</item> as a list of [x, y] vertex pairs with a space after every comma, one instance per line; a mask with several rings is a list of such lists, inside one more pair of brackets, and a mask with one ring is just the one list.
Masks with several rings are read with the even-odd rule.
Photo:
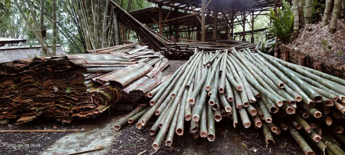
[[136, 101], [168, 78], [163, 57], [147, 46], [121, 45], [0, 64], [0, 122], [42, 116], [69, 123]]

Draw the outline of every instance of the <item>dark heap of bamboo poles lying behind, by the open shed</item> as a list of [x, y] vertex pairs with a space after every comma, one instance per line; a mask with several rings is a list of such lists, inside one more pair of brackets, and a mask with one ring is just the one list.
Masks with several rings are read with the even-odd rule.
[[178, 56], [178, 57], [189, 57], [194, 54], [195, 48], [199, 51], [205, 52], [216, 52], [218, 50], [225, 50], [229, 48], [235, 48], [242, 50], [249, 48], [254, 51], [258, 48], [259, 44], [247, 43], [237, 40], [212, 40], [214, 42], [190, 42], [190, 43], [171, 43], [167, 42], [164, 48], [161, 48], [161, 53], [166, 57]]

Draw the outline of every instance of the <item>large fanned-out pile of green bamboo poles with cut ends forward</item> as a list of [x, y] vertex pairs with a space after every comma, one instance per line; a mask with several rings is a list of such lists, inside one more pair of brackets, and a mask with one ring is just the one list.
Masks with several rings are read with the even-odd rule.
[[234, 127], [240, 123], [260, 128], [267, 144], [274, 142], [272, 133], [283, 130], [291, 133], [306, 155], [314, 154], [307, 142], [321, 151], [345, 154], [338, 146], [345, 145], [345, 80], [259, 50], [196, 51], [147, 96], [152, 97], [149, 105], [140, 105], [115, 129], [135, 122], [140, 129], [158, 115], [149, 130], [150, 135], [156, 134], [152, 144], [156, 150], [164, 137], [170, 146], [175, 133], [184, 131], [214, 141], [215, 122], [228, 118]]

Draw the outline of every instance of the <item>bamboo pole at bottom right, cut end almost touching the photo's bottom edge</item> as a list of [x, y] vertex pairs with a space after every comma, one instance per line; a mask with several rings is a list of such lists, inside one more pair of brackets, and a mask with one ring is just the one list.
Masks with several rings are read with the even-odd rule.
[[295, 141], [299, 145], [299, 147], [302, 149], [302, 151], [306, 155], [314, 155], [313, 149], [308, 145], [308, 143], [303, 139], [303, 137], [297, 132], [297, 130], [290, 124], [288, 123], [288, 130], [290, 134], [294, 137]]

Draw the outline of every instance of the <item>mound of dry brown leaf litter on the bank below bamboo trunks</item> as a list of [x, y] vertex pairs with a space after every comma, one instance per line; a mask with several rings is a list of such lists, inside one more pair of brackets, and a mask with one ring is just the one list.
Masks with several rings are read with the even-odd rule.
[[307, 24], [299, 31], [299, 37], [287, 45], [297, 47], [300, 52], [310, 54], [314, 59], [332, 65], [345, 67], [345, 21], [338, 20], [337, 32], [329, 33], [329, 24], [321, 27], [318, 24]]

